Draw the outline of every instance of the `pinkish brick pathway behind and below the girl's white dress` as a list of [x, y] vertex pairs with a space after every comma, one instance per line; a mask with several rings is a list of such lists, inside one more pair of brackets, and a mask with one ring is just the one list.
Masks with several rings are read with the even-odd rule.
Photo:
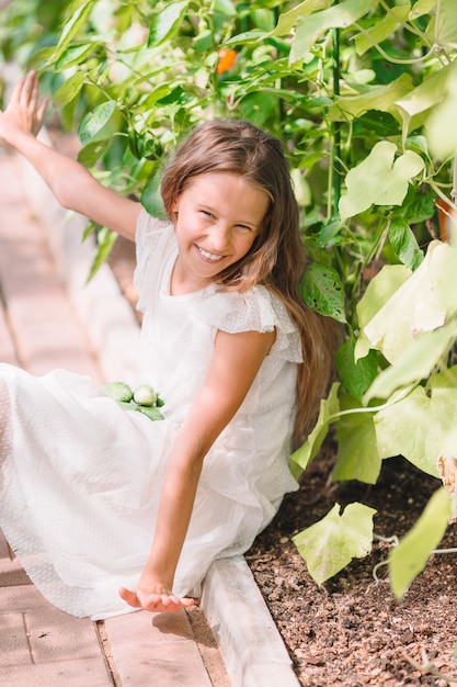
[[[45, 234], [0, 148], [0, 360], [34, 374], [61, 367], [103, 380], [57, 275]], [[0, 531], [0, 685], [228, 687], [199, 610], [73, 618], [31, 584]]]

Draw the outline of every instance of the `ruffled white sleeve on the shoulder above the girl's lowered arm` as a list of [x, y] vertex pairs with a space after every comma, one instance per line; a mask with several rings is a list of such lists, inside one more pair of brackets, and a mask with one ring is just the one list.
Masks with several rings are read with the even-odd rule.
[[294, 363], [302, 362], [301, 341], [297, 329], [278, 296], [266, 286], [247, 292], [206, 290], [190, 304], [192, 315], [228, 334], [276, 330], [271, 354]]

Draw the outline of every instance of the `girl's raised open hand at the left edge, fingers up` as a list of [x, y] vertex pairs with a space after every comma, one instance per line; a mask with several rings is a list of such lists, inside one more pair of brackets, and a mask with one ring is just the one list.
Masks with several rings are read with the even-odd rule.
[[38, 79], [34, 71], [15, 86], [11, 100], [3, 112], [0, 111], [0, 136], [14, 129], [31, 133], [39, 132], [45, 115], [47, 100], [38, 101]]

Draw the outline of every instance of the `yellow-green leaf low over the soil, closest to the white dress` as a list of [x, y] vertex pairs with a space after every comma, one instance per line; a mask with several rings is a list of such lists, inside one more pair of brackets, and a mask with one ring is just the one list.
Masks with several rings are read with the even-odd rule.
[[318, 585], [372, 550], [376, 510], [358, 503], [346, 506], [342, 515], [340, 510], [340, 504], [335, 504], [322, 520], [293, 538]]

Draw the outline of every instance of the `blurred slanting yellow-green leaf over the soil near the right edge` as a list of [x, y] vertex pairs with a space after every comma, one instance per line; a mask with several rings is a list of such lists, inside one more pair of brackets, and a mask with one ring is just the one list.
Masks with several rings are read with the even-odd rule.
[[446, 489], [437, 489], [414, 527], [391, 551], [390, 584], [397, 598], [404, 596], [413, 579], [424, 570], [432, 551], [443, 539], [452, 511]]

